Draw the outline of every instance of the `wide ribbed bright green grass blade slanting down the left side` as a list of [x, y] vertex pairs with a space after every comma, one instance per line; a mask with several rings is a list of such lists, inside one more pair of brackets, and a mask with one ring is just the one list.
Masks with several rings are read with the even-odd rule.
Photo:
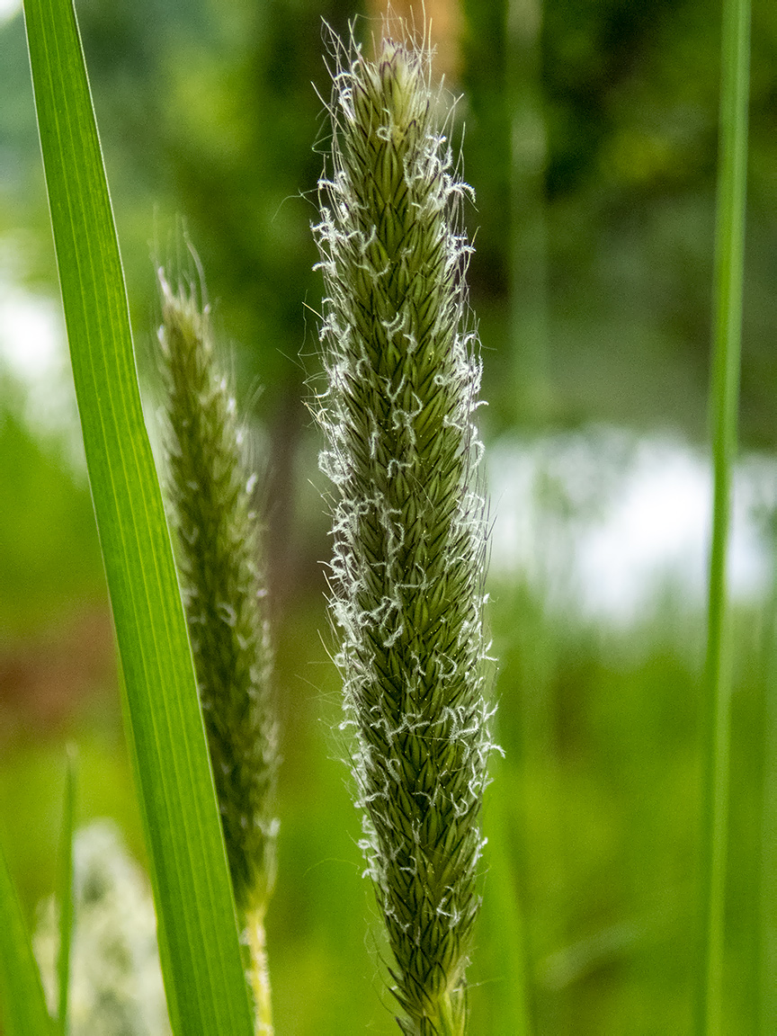
[[76, 16], [70, 0], [27, 0], [25, 16], [172, 1021], [186, 1036], [248, 1036], [234, 901]]

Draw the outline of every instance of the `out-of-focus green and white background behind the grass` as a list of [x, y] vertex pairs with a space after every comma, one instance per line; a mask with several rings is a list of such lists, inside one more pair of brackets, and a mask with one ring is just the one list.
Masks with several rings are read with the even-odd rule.
[[[149, 414], [153, 263], [175, 266], [182, 223], [256, 432], [283, 724], [268, 917], [277, 1031], [396, 1032], [342, 761], [326, 486], [305, 405], [319, 383], [310, 224], [328, 132], [322, 19], [342, 33], [375, 9], [342, 0], [77, 7]], [[456, 148], [463, 136], [477, 196], [464, 220], [477, 246], [470, 298], [494, 489], [489, 622], [505, 757], [484, 816], [472, 1032], [516, 1031], [522, 933], [537, 1034], [688, 1033], [719, 10], [706, 0], [428, 0], [427, 9], [438, 69], [462, 95], [450, 136]], [[80, 818], [114, 816], [141, 860], [144, 851], [61, 346], [23, 23], [10, 6], [3, 19], [0, 833], [32, 917], [54, 884], [66, 742], [80, 750]], [[356, 33], [369, 40], [376, 25], [361, 18]], [[777, 1031], [768, 981], [777, 818], [764, 812], [777, 765], [772, 0], [753, 4], [752, 40], [725, 1031], [766, 1036]], [[41, 345], [50, 341], [60, 348]], [[684, 521], [686, 539], [661, 554], [658, 533], [668, 542]], [[632, 564], [640, 549], [654, 567]], [[690, 574], [689, 557], [698, 560]]]

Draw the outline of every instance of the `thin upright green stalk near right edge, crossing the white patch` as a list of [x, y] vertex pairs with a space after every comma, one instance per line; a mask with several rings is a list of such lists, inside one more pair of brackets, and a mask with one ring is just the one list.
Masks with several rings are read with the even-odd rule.
[[697, 1032], [722, 1033], [730, 672], [726, 606], [726, 553], [742, 338], [747, 125], [749, 0], [724, 0], [720, 155], [715, 255], [713, 421], [713, 537], [706, 665], [707, 751], [702, 829], [702, 954]]

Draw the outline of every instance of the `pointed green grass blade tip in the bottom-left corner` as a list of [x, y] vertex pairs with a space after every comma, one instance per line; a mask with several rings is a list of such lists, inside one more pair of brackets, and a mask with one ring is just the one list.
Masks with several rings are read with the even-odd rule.
[[53, 1036], [40, 973], [5, 854], [0, 851], [0, 989], [6, 1036]]

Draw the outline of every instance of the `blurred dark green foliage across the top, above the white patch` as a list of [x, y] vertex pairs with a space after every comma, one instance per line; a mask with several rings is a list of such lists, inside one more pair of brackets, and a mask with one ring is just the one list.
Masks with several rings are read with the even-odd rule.
[[[702, 0], [542, 5], [554, 423], [670, 424], [703, 435], [717, 153], [719, 19]], [[283, 454], [306, 423], [320, 279], [309, 224], [322, 157], [324, 19], [352, 3], [84, 0], [79, 4], [139, 337], [153, 317], [149, 251], [178, 218], [246, 383]], [[459, 124], [477, 208], [470, 280], [494, 428], [514, 420], [505, 377], [510, 220], [507, 0], [463, 3]], [[357, 23], [363, 35], [369, 23]], [[364, 28], [363, 28], [364, 27]], [[35, 227], [45, 200], [23, 31], [0, 28], [0, 228]], [[774, 441], [777, 378], [777, 15], [753, 5], [743, 434]], [[31, 190], [32, 189], [32, 190]], [[51, 276], [48, 251], [40, 265]], [[44, 258], [44, 256], [46, 258]], [[306, 308], [306, 304], [310, 309]], [[312, 312], [313, 311], [313, 312]], [[305, 357], [300, 361], [298, 357]]]

